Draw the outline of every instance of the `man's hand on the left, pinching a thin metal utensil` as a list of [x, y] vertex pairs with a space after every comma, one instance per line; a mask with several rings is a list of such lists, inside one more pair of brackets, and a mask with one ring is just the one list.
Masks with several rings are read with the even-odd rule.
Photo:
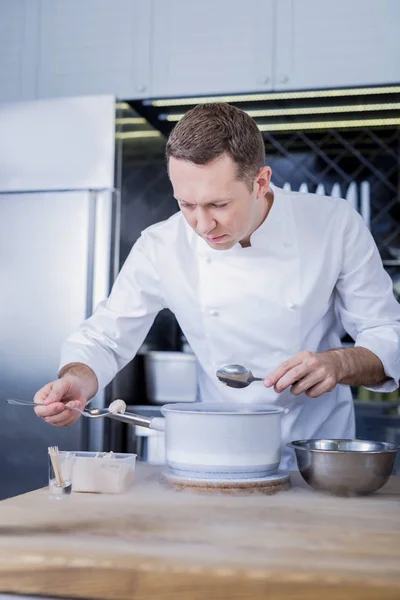
[[68, 406], [83, 410], [87, 398], [79, 377], [67, 375], [42, 387], [36, 392], [34, 402], [43, 405], [35, 407], [38, 417], [56, 427], [65, 427], [81, 416], [78, 411], [69, 410]]

